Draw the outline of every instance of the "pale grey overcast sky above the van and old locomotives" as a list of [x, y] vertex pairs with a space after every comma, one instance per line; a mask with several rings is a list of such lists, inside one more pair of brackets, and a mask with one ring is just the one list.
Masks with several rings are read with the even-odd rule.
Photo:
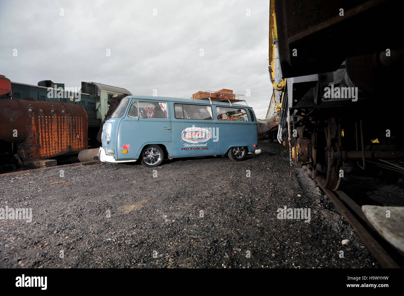
[[0, 74], [11, 81], [93, 81], [179, 98], [249, 89], [265, 119], [268, 0], [0, 0], [0, 19]]

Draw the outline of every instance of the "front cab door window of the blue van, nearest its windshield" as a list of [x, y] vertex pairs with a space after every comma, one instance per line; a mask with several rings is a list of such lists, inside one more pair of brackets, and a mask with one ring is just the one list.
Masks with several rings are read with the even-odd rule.
[[140, 118], [167, 118], [167, 104], [163, 102], [133, 101], [128, 116], [137, 117], [138, 114]]

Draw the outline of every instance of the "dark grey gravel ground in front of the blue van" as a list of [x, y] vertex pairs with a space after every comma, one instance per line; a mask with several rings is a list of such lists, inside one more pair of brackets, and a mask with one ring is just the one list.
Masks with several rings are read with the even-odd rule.
[[[260, 148], [166, 161], [157, 177], [137, 163], [0, 177], [0, 208], [32, 208], [30, 223], [0, 220], [0, 267], [379, 267], [316, 183], [289, 177], [288, 151]], [[284, 206], [310, 208], [310, 222], [277, 219]]]

